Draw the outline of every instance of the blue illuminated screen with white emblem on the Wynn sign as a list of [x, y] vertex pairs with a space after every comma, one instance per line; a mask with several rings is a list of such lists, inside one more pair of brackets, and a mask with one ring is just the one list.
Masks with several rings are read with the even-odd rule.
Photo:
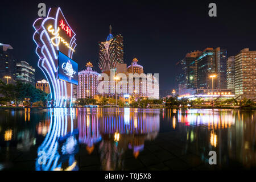
[[60, 51], [59, 79], [78, 85], [78, 64]]

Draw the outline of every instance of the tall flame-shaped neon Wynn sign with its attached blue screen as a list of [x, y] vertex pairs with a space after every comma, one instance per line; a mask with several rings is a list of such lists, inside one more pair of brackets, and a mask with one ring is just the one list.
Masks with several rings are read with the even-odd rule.
[[33, 27], [36, 54], [39, 57], [38, 67], [46, 76], [51, 89], [49, 106], [71, 107], [73, 85], [78, 84], [78, 67], [72, 60], [76, 34], [60, 7], [49, 9], [47, 16], [36, 19]]

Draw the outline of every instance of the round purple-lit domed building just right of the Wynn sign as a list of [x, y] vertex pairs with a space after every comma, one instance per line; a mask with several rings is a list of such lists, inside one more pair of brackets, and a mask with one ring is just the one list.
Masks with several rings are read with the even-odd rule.
[[92, 67], [93, 64], [88, 62], [86, 64], [86, 70], [78, 73], [79, 85], [77, 98], [94, 97], [97, 95], [99, 73], [93, 71]]

